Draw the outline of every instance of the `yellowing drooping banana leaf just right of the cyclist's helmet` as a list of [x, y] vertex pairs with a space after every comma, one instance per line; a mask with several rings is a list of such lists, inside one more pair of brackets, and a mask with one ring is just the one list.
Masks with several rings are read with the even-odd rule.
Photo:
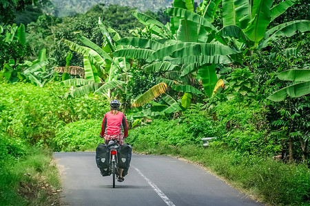
[[146, 104], [147, 102], [153, 100], [154, 98], [157, 98], [162, 93], [165, 93], [167, 89], [168, 86], [164, 82], [156, 84], [154, 87], [145, 91], [145, 93], [143, 93], [140, 97], [138, 97], [134, 101], [134, 103], [132, 103], [132, 106], [135, 107], [142, 106], [143, 104]]

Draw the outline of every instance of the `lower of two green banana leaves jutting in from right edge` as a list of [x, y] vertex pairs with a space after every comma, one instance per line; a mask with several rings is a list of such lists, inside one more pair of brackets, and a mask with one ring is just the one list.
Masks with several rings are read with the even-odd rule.
[[287, 98], [287, 95], [289, 95], [291, 98], [299, 98], [302, 95], [307, 95], [309, 93], [310, 93], [310, 81], [307, 81], [282, 88], [276, 91], [275, 93], [269, 95], [267, 99], [273, 102], [281, 102]]

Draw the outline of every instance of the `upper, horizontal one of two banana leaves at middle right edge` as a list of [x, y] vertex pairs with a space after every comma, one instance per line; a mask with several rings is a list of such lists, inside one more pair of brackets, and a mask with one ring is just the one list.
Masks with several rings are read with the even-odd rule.
[[293, 82], [309, 81], [310, 69], [289, 69], [278, 74], [280, 80], [289, 80]]

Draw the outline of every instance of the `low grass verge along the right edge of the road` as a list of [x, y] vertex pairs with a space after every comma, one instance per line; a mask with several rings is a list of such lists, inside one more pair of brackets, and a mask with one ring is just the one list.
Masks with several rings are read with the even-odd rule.
[[309, 205], [310, 172], [306, 165], [240, 155], [234, 150], [201, 146], [134, 146], [135, 152], [173, 155], [203, 165], [230, 185], [269, 205]]

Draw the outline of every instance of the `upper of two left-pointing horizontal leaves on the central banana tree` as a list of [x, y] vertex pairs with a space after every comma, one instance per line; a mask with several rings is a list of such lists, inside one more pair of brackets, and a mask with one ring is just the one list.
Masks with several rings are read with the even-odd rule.
[[132, 45], [134, 47], [140, 47], [142, 49], [152, 49], [152, 50], [161, 49], [163, 47], [163, 45], [161, 43], [158, 43], [157, 41], [138, 37], [121, 38], [120, 40], [116, 41], [116, 44]]

